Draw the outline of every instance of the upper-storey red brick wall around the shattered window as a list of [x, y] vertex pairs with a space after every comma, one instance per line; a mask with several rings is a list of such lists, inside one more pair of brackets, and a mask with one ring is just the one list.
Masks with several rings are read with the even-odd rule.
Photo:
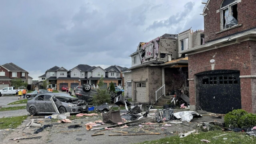
[[242, 0], [237, 4], [238, 24], [242, 26], [215, 34], [221, 31], [221, 11], [216, 13], [216, 10], [220, 10], [222, 1], [211, 0], [207, 6], [209, 10], [205, 10], [207, 14], [204, 17], [206, 42], [256, 27], [256, 0]]

